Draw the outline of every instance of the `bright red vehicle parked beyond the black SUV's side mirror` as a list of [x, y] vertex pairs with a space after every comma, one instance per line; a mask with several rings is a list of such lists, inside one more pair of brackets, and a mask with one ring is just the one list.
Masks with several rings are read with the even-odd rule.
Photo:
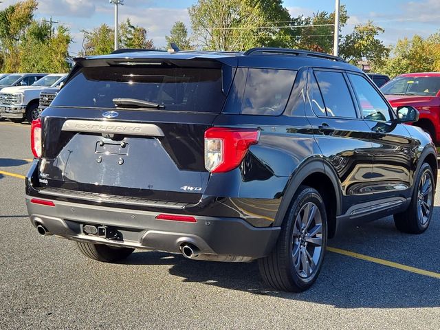
[[381, 87], [394, 108], [410, 105], [420, 112], [414, 126], [428, 132], [440, 144], [440, 72], [402, 74]]

